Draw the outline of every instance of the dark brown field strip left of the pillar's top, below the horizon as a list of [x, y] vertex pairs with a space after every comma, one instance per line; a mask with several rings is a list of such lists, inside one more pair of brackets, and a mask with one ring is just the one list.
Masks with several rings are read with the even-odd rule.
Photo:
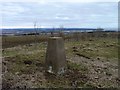
[[2, 37], [2, 46], [3, 48], [6, 47], [13, 47], [17, 45], [24, 45], [36, 42], [43, 42], [47, 41], [48, 36], [3, 36]]

